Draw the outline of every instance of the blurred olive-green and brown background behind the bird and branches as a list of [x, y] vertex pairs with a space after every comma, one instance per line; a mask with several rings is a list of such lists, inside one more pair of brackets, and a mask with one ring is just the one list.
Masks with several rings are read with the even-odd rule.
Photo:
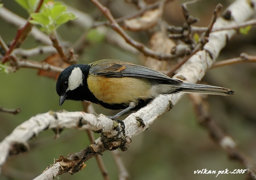
[[[90, 13], [97, 17], [97, 9], [90, 1], [74, 0], [64, 1], [80, 11]], [[103, 2], [103, 1], [102, 1]], [[148, 1], [150, 2], [150, 1]], [[152, 1], [151, 1], [152, 2]], [[172, 25], [182, 25], [183, 17], [180, 12], [180, 3], [174, 1], [165, 7], [164, 18]], [[189, 12], [198, 17], [196, 25], [207, 26], [212, 11], [221, 3], [225, 9], [233, 1], [202, 1], [189, 6]], [[15, 12], [23, 18], [28, 14], [13, 0], [2, 0], [4, 7]], [[104, 1], [115, 18], [122, 17], [133, 11], [136, 7], [127, 5], [123, 1]], [[123, 11], [122, 11], [123, 10]], [[99, 13], [98, 13], [99, 14]], [[99, 19], [98, 19], [99, 18]], [[99, 15], [97, 20], [104, 19]], [[5, 42], [11, 42], [18, 27], [0, 19], [0, 34]], [[84, 30], [70, 23], [62, 25], [58, 33], [63, 40], [75, 43], [84, 33]], [[147, 32], [129, 33], [134, 39], [147, 45]], [[42, 45], [29, 37], [22, 48], [29, 49]], [[218, 61], [239, 56], [245, 52], [256, 55], [255, 28], [248, 35], [236, 35], [228, 46], [221, 52]], [[48, 54], [49, 55], [49, 54]], [[29, 57], [35, 61], [42, 61], [47, 54]], [[137, 54], [126, 52], [106, 41], [88, 43], [80, 54], [78, 63], [90, 63], [99, 59], [112, 58], [142, 64]], [[216, 86], [228, 87], [235, 90], [230, 97], [209, 96], [213, 118], [238, 143], [239, 148], [256, 160], [256, 64], [243, 63], [209, 70], [202, 80]], [[80, 102], [67, 101], [59, 106], [59, 97], [55, 91], [55, 80], [37, 76], [37, 70], [20, 68], [15, 73], [0, 74], [1, 94], [0, 106], [14, 109], [21, 108], [17, 115], [0, 112], [0, 140], [9, 135], [12, 130], [38, 113], [66, 109], [67, 111], [82, 111]], [[111, 110], [93, 105], [96, 112], [106, 115], [114, 114]], [[99, 137], [99, 134], [95, 134]], [[12, 156], [7, 159], [0, 179], [32, 179], [44, 171], [48, 164], [53, 164], [59, 155], [68, 155], [78, 152], [88, 145], [85, 131], [65, 129], [57, 140], [53, 139], [51, 130], [44, 131], [29, 141], [28, 153]], [[134, 137], [130, 147], [120, 152], [125, 167], [131, 179], [244, 179], [244, 174], [202, 175], [194, 174], [197, 169], [225, 170], [244, 169], [238, 162], [228, 159], [227, 154], [215, 144], [208, 132], [198, 125], [192, 103], [185, 95], [169, 112], [159, 117], [145, 132]], [[118, 169], [110, 151], [102, 155], [111, 179], [118, 178]], [[73, 176], [68, 173], [61, 175], [60, 179], [102, 179], [95, 159], [86, 162], [86, 167]]]

